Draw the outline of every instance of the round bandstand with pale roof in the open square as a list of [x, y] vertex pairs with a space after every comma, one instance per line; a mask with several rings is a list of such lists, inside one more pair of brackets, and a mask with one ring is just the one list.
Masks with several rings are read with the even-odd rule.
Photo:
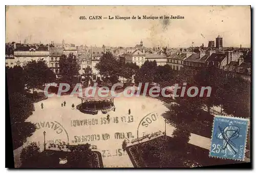
[[111, 92], [104, 92], [101, 94], [102, 96], [99, 96], [98, 91], [98, 87], [95, 89], [95, 94], [93, 93], [93, 88], [82, 89], [82, 96], [77, 97], [81, 99], [81, 104], [77, 105], [77, 109], [79, 109], [82, 113], [93, 115], [98, 114], [98, 111], [106, 114], [112, 110], [115, 110], [115, 97], [111, 95]]

